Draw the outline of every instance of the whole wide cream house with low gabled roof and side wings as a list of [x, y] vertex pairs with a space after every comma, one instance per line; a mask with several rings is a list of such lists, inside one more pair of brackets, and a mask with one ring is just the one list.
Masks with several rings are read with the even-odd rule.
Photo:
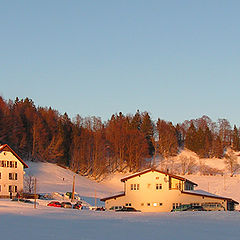
[[155, 169], [133, 174], [121, 181], [124, 183], [122, 193], [101, 199], [108, 210], [126, 206], [142, 212], [169, 212], [183, 204], [216, 204], [221, 210], [233, 210], [238, 204], [229, 198], [194, 191], [196, 183]]

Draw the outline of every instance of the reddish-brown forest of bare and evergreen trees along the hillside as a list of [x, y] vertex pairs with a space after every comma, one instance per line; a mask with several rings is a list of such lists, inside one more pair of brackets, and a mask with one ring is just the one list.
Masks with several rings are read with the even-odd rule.
[[139, 110], [115, 113], [105, 122], [94, 116], [70, 119], [29, 98], [0, 97], [0, 144], [5, 143], [25, 160], [56, 163], [94, 179], [142, 170], [184, 148], [200, 158], [222, 158], [228, 147], [240, 150], [239, 129], [227, 119], [202, 116], [173, 125]]

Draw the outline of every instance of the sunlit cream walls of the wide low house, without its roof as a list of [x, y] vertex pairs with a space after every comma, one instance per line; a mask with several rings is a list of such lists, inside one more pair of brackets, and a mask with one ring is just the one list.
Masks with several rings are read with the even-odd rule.
[[[169, 189], [169, 179], [172, 183], [171, 189]], [[142, 212], [169, 212], [173, 209], [173, 204], [174, 206], [190, 203], [201, 205], [204, 202], [218, 202], [227, 209], [227, 201], [184, 194], [176, 187], [178, 184], [183, 186], [184, 182], [162, 173], [148, 172], [126, 180], [125, 196], [107, 200], [105, 207], [109, 209], [112, 206], [131, 206]]]

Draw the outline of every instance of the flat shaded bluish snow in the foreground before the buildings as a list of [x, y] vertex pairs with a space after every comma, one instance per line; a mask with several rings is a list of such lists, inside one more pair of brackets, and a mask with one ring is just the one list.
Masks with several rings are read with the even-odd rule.
[[0, 201], [1, 239], [238, 240], [239, 212], [115, 213]]

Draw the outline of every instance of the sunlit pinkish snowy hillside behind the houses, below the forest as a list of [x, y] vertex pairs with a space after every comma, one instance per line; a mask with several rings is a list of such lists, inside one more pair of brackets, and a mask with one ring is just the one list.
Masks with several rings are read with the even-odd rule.
[[[189, 151], [183, 153], [192, 155]], [[196, 157], [196, 156], [195, 156]], [[206, 159], [205, 162], [209, 162]], [[212, 160], [211, 164], [216, 168], [223, 168], [223, 161]], [[75, 191], [84, 197], [97, 198], [106, 197], [113, 193], [123, 191], [123, 183], [121, 178], [129, 175], [127, 173], [116, 173], [104, 181], [98, 183], [86, 177], [76, 175], [69, 169], [64, 169], [56, 164], [44, 162], [27, 162], [29, 168], [26, 174], [37, 177], [39, 192], [67, 192], [72, 191], [73, 176], [76, 176]], [[160, 167], [160, 166], [159, 166]], [[232, 198], [240, 202], [240, 175], [230, 177], [228, 174], [216, 176], [201, 176], [199, 173], [192, 175], [183, 175], [183, 177], [196, 182], [198, 186], [196, 190], [205, 190], [216, 195]]]

